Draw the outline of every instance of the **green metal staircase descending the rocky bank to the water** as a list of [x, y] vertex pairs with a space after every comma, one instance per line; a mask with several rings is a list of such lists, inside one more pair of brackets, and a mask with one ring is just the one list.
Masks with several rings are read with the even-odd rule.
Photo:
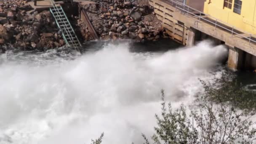
[[50, 1], [52, 5], [52, 7], [50, 8], [50, 11], [53, 14], [53, 17], [60, 29], [61, 35], [65, 43], [68, 46], [77, 48], [79, 51], [78, 47], [81, 46], [81, 43], [79, 42], [74, 29], [72, 28], [69, 20], [67, 19], [67, 16], [64, 10], [62, 9], [61, 6], [57, 6], [53, 0], [50, 0]]

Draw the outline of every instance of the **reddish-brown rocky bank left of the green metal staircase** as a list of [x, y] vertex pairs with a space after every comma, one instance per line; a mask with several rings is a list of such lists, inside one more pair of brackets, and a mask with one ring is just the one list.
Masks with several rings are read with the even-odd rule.
[[[64, 45], [50, 11], [38, 13], [29, 0], [0, 1], [0, 52], [8, 48], [45, 51]], [[7, 47], [5, 47], [7, 45]]]

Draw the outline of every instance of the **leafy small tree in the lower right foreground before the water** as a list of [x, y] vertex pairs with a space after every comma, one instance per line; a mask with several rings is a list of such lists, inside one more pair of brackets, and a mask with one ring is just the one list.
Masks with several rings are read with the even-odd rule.
[[[221, 94], [218, 88], [214, 88]], [[168, 110], [162, 90], [162, 117], [156, 115], [157, 127], [152, 136], [154, 144], [250, 144], [255, 141], [256, 130], [252, 128], [250, 120], [254, 113], [238, 111], [227, 101], [214, 103], [212, 92], [206, 89], [205, 96], [197, 97], [190, 106], [190, 115], [186, 115], [186, 108], [181, 105], [173, 110], [171, 103]], [[222, 91], [223, 92], [223, 91]], [[210, 95], [208, 95], [210, 94]], [[142, 134], [146, 144], [146, 136]]]

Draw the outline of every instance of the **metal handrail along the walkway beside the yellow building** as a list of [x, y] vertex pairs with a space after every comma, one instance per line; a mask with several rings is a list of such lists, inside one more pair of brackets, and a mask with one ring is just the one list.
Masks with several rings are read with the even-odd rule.
[[[237, 28], [237, 27], [235, 27], [235, 26], [233, 26], [233, 25], [231, 25], [231, 24], [228, 24], [228, 23], [226, 23], [226, 22], [224, 22], [224, 21], [221, 21], [221, 20], [219, 20], [219, 19], [216, 19], [215, 17], [213, 17], [213, 16], [211, 16], [211, 15], [209, 15], [209, 14], [206, 14], [206, 13], [203, 13], [203, 12], [201, 12], [201, 11], [198, 11], [198, 10], [196, 10], [195, 8], [191, 8], [191, 7], [189, 7], [188, 5], [185, 5], [185, 4], [180, 3], [180, 2], [178, 2], [178, 1], [173, 1], [173, 0], [167, 0], [167, 1], [171, 2], [172, 5], [175, 6], [175, 10], [176, 10], [176, 9], [179, 9], [179, 10], [181, 11], [181, 13], [184, 13], [184, 14], [185, 14], [185, 13], [187, 12], [187, 15], [188, 15], [188, 16], [189, 16], [189, 14], [192, 14], [193, 16], [198, 17], [198, 18], [199, 18], [199, 21], [198, 21], [198, 19], [196, 19], [196, 20], [197, 20], [197, 24], [200, 23], [201, 19], [203, 19], [203, 20], [205, 20], [205, 21], [208, 21], [208, 22], [211, 23], [211, 24], [214, 24], [215, 29], [216, 29], [217, 27], [221, 27], [221, 28], [226, 29], [227, 31], [231, 32], [232, 37], [233, 37], [233, 35], [235, 34], [235, 35], [239, 35], [239, 36], [241, 36], [241, 37], [243, 37], [243, 38], [249, 40], [249, 45], [250, 45], [251, 42], [256, 43], [256, 40], [251, 39], [252, 36], [253, 36], [253, 34], [251, 34], [251, 33], [245, 32], [245, 31], [243, 31], [243, 30], [241, 30], [241, 29], [239, 29], [239, 28]], [[184, 7], [185, 7], [185, 8], [184, 8]], [[199, 16], [196, 15], [195, 13], [191, 13], [189, 10], [193, 10], [193, 11], [198, 12], [198, 13], [199, 13]], [[215, 22], [209, 21], [208, 19], [205, 19], [205, 18], [203, 18], [202, 16], [207, 16], [208, 18], [215, 20]], [[226, 27], [222, 27], [221, 25], [217, 24], [217, 22], [220, 22], [221, 24], [227, 25], [228, 27], [232, 28], [232, 30], [227, 29]], [[247, 35], [250, 35], [250, 38], [245, 37], [245, 36], [243, 36], [243, 35], [240, 35], [239, 33], [235, 32], [234, 30], [243, 32], [244, 34], [247, 34]], [[241, 37], [238, 37], [238, 38], [241, 38]]]

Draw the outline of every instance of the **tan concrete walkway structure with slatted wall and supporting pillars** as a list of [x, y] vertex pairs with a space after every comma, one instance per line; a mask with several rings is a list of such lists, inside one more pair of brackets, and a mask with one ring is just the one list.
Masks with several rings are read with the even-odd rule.
[[[155, 8], [157, 18], [163, 22], [163, 27], [173, 40], [183, 45], [192, 46], [197, 40], [210, 38], [216, 45], [225, 44], [230, 47], [228, 58], [230, 69], [256, 66], [256, 45], [250, 44], [248, 40], [234, 36], [208, 22], [198, 22], [197, 19], [176, 11], [172, 3], [166, 0], [149, 0], [149, 3]], [[248, 66], [245, 66], [246, 53], [253, 55], [247, 56]]]

